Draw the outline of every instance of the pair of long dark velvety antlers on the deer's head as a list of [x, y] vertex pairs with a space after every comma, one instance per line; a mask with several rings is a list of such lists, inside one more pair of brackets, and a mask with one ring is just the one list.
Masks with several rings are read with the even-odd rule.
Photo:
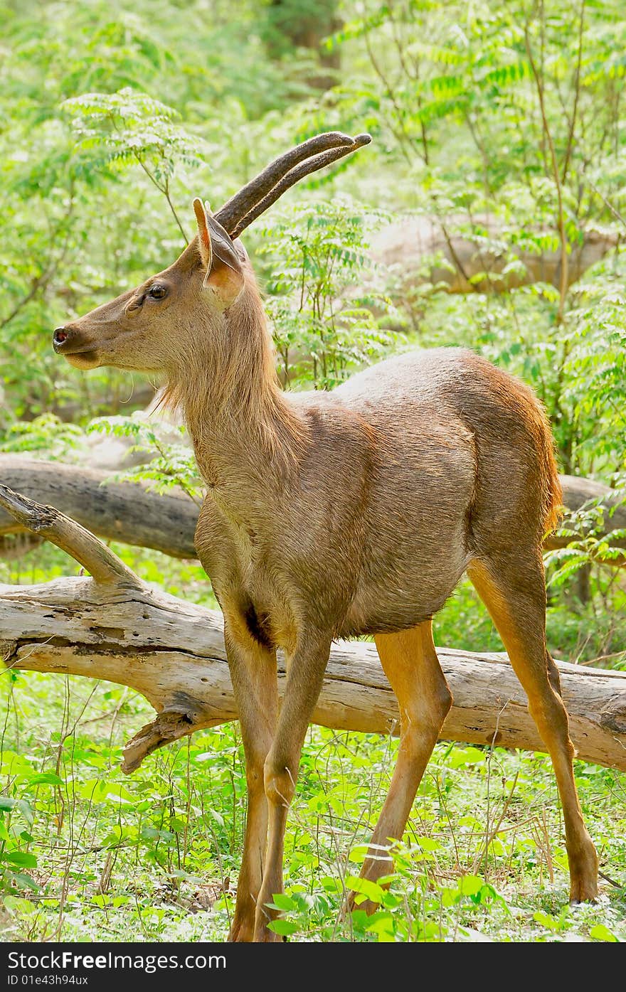
[[328, 131], [309, 138], [302, 145], [279, 156], [255, 179], [231, 196], [217, 211], [215, 219], [232, 238], [238, 237], [244, 228], [290, 186], [344, 155], [355, 152], [363, 145], [369, 145], [371, 140], [368, 134], [350, 138], [340, 131]]

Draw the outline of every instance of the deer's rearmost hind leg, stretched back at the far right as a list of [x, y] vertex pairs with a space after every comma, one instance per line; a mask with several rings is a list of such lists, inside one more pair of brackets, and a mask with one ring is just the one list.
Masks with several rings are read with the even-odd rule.
[[582, 820], [573, 780], [574, 749], [561, 697], [559, 672], [546, 647], [546, 580], [541, 556], [516, 560], [502, 556], [474, 560], [467, 573], [506, 648], [515, 674], [528, 696], [528, 708], [552, 758], [563, 805], [569, 862], [569, 899], [597, 895], [597, 856]]

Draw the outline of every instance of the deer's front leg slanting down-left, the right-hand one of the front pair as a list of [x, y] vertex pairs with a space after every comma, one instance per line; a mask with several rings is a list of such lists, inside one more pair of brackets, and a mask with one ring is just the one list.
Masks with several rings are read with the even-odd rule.
[[276, 735], [265, 762], [265, 795], [269, 837], [263, 884], [256, 911], [254, 939], [281, 940], [268, 924], [279, 915], [271, 910], [275, 893], [283, 892], [283, 853], [287, 814], [296, 791], [300, 755], [323, 682], [330, 654], [330, 635], [306, 632], [290, 659], [285, 696]]

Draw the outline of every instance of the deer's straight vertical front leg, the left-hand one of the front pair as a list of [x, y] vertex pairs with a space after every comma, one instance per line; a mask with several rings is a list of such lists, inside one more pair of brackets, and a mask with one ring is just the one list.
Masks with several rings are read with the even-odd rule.
[[224, 618], [224, 640], [241, 724], [248, 787], [243, 857], [228, 939], [245, 941], [254, 936], [263, 880], [268, 824], [263, 769], [278, 713], [276, 652], [259, 644], [247, 630], [245, 621], [237, 616]]

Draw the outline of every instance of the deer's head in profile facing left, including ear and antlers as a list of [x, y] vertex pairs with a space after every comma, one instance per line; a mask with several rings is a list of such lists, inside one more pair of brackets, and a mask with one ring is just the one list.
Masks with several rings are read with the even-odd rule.
[[254, 276], [238, 235], [302, 177], [371, 141], [329, 132], [271, 163], [213, 216], [193, 200], [197, 234], [168, 269], [110, 303], [57, 327], [53, 345], [80, 369], [113, 365], [173, 371], [197, 344], [198, 327], [221, 346], [227, 314]]

